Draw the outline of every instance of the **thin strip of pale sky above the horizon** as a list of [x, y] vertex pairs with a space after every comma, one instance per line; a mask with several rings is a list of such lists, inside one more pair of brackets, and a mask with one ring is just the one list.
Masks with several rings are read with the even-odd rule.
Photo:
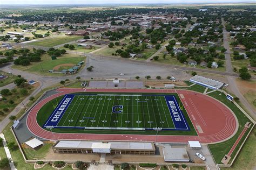
[[[255, 2], [255, 0], [0, 0], [1, 4], [131, 4], [131, 3], [233, 3]], [[1, 8], [1, 7], [0, 7]]]

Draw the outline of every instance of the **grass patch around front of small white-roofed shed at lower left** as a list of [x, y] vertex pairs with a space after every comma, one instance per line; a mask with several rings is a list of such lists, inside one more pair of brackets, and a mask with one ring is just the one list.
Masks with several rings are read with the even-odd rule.
[[39, 147], [37, 150], [33, 150], [32, 148], [24, 145], [23, 151], [27, 159], [42, 159], [45, 157], [52, 146], [53, 143], [48, 142]]

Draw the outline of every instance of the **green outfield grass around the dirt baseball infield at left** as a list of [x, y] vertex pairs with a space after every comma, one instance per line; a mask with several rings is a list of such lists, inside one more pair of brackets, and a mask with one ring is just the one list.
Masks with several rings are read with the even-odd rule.
[[49, 73], [48, 70], [53, 69], [53, 67], [55, 66], [62, 65], [65, 63], [76, 65], [78, 62], [84, 61], [85, 59], [85, 56], [80, 56], [76, 54], [64, 54], [63, 56], [59, 56], [57, 60], [51, 60], [48, 54], [44, 54], [43, 56], [41, 56], [41, 62], [31, 62], [31, 64], [28, 67], [13, 65], [12, 68], [40, 75], [63, 76], [64, 74]]

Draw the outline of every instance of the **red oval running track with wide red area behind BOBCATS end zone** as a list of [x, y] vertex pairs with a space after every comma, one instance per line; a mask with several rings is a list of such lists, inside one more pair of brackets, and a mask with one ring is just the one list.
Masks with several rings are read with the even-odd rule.
[[188, 140], [199, 140], [201, 143], [218, 143], [227, 140], [237, 132], [238, 122], [232, 111], [212, 97], [188, 90], [160, 89], [75, 89], [60, 88], [58, 94], [49, 96], [35, 105], [29, 112], [26, 124], [29, 130], [38, 137], [55, 139], [86, 140], [132, 140], [155, 141], [155, 135], [144, 134], [91, 134], [91, 133], [51, 133], [44, 130], [36, 121], [37, 112], [53, 98], [75, 92], [120, 92], [120, 93], [178, 93], [198, 136], [166, 136], [159, 135], [158, 142], [187, 143]]

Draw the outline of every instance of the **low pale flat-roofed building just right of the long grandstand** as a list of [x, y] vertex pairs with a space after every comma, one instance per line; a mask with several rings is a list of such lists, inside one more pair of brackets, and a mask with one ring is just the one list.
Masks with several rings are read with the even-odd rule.
[[171, 146], [165, 146], [163, 148], [164, 160], [171, 162], [188, 162], [190, 158], [188, 157], [185, 148], [172, 148]]

